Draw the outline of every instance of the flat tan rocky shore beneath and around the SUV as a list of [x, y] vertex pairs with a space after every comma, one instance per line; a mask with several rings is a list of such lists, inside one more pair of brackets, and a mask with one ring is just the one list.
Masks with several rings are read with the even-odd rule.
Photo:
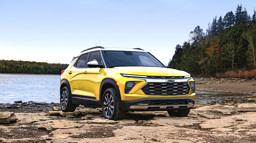
[[[253, 82], [239, 83], [252, 85]], [[232, 83], [237, 82], [198, 86]], [[127, 112], [118, 121], [104, 119], [101, 108], [79, 106], [75, 112], [64, 113], [58, 103], [2, 103], [0, 142], [255, 143], [255, 101], [253, 94], [227, 97], [208, 105], [196, 103], [188, 117], [170, 117], [166, 111]]]

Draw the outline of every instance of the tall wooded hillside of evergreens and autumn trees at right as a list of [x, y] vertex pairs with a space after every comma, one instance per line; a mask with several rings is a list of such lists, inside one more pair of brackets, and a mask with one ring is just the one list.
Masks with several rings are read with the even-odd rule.
[[235, 13], [227, 12], [208, 24], [206, 32], [197, 26], [190, 39], [176, 45], [168, 68], [191, 74], [256, 69], [256, 10], [253, 15], [238, 5]]

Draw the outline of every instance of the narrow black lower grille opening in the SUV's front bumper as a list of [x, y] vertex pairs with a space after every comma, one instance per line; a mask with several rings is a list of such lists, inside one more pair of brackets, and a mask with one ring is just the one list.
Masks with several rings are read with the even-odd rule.
[[150, 101], [148, 105], [186, 105], [187, 100], [160, 100], [160, 101]]

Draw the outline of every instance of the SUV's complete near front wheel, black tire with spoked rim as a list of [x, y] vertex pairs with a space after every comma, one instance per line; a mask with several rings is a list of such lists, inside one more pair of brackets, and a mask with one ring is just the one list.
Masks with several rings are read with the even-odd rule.
[[[108, 98], [110, 100], [111, 100], [111, 98], [113, 98], [112, 99], [113, 102], [111, 101], [110, 103], [108, 103], [106, 97], [110, 97], [110, 98]], [[111, 120], [123, 119], [123, 116], [124, 116], [125, 112], [122, 111], [122, 109], [120, 108], [120, 104], [119, 104], [118, 96], [117, 96], [117, 91], [116, 91], [115, 88], [108, 88], [104, 92], [103, 97], [102, 97], [102, 101], [101, 101], [101, 107], [102, 107], [102, 112], [103, 112], [103, 116], [104, 116], [105, 119], [111, 119]], [[111, 115], [108, 114], [108, 113], [111, 113], [111, 111], [112, 111], [112, 114]]]

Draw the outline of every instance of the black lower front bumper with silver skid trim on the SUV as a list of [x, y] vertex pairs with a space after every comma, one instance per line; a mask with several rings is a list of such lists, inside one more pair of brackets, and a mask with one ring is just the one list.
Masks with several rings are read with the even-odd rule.
[[144, 98], [132, 101], [119, 100], [124, 111], [167, 111], [193, 108], [195, 100], [192, 98]]

